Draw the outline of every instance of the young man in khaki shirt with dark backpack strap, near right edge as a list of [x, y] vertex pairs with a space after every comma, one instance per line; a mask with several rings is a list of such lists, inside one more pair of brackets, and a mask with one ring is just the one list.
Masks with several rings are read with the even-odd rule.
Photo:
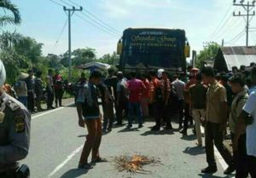
[[[245, 80], [241, 74], [236, 74], [230, 78], [230, 87], [235, 95], [230, 108], [229, 126], [231, 139], [234, 141], [236, 133], [236, 125], [238, 117], [241, 114], [242, 108], [247, 102], [247, 87]], [[233, 151], [233, 163], [224, 171], [225, 175], [229, 175], [236, 170], [236, 177], [247, 177], [247, 149], [246, 149], [246, 129], [241, 130], [241, 135], [238, 143], [238, 150]]]

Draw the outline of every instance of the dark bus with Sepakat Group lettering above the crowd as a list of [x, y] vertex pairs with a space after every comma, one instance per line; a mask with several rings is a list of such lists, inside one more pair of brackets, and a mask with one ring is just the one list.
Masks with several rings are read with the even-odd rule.
[[186, 57], [190, 55], [185, 31], [156, 28], [128, 28], [119, 40], [117, 54], [119, 70], [148, 72], [186, 72]]

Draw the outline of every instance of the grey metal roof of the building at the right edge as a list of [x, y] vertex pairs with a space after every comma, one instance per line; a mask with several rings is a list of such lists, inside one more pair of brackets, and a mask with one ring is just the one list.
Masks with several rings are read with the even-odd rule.
[[256, 63], [256, 46], [223, 47], [221, 51], [229, 71], [232, 66], [250, 66], [251, 62]]

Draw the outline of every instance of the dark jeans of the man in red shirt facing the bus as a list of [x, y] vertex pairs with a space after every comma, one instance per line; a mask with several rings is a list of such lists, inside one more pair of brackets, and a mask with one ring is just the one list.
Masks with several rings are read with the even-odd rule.
[[132, 126], [133, 118], [137, 118], [139, 125], [143, 124], [143, 113], [140, 102], [129, 102], [129, 126]]

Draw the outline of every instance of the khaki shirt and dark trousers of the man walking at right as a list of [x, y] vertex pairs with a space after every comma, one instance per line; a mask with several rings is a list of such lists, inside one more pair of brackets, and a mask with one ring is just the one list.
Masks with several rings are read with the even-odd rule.
[[216, 166], [214, 158], [213, 144], [222, 155], [227, 164], [231, 164], [231, 155], [224, 148], [224, 133], [222, 125], [225, 123], [223, 103], [227, 102], [226, 89], [223, 85], [215, 81], [207, 91], [207, 113], [205, 126], [207, 163]]

